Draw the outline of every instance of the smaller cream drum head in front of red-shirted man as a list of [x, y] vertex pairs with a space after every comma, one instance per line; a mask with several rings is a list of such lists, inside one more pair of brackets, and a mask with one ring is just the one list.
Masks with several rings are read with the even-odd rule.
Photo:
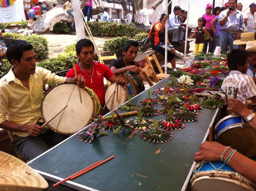
[[127, 91], [125, 90], [125, 88], [121, 85], [118, 85], [118, 99], [116, 101], [116, 92], [113, 93], [117, 88], [116, 88], [116, 83], [111, 84], [108, 87], [108, 90], [106, 91], [105, 94], [105, 103], [107, 103], [107, 107], [109, 110], [113, 110], [116, 107], [118, 107], [119, 105], [122, 105], [123, 103], [125, 103], [127, 101], [128, 98], [128, 94]]

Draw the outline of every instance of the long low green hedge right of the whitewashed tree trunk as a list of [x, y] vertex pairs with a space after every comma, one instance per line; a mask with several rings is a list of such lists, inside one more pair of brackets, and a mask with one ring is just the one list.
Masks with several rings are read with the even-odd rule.
[[132, 24], [125, 25], [112, 22], [87, 22], [92, 35], [128, 36], [133, 37], [141, 32]]

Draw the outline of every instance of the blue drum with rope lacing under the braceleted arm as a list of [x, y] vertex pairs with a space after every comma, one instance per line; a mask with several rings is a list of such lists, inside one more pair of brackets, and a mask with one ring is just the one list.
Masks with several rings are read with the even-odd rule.
[[[190, 181], [191, 191], [241, 191], [242, 188], [244, 191], [250, 191], [250, 186], [255, 189], [253, 185], [247, 183], [250, 182], [248, 179], [245, 181], [241, 179], [240, 184], [241, 175], [224, 162], [202, 163], [195, 167], [197, 170], [194, 171]], [[220, 167], [221, 170], [217, 171], [216, 169]]]

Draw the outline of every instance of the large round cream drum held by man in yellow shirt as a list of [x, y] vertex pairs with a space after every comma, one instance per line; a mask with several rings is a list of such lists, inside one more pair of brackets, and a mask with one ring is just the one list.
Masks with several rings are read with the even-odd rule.
[[41, 102], [41, 115], [44, 122], [49, 121], [56, 113], [68, 105], [58, 116], [47, 124], [52, 130], [62, 134], [73, 134], [90, 123], [94, 116], [95, 103], [91, 94], [81, 90], [82, 103], [80, 103], [79, 90], [76, 84], [65, 83], [52, 87]]

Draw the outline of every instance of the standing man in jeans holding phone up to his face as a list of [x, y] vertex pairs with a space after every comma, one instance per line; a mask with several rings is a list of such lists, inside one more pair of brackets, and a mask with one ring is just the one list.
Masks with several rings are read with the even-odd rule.
[[241, 32], [244, 30], [244, 17], [242, 12], [236, 9], [236, 0], [229, 0], [229, 8], [218, 17], [221, 26], [220, 42], [221, 51], [227, 51], [228, 45], [230, 51], [238, 49], [238, 45], [234, 45], [233, 41], [240, 38]]

